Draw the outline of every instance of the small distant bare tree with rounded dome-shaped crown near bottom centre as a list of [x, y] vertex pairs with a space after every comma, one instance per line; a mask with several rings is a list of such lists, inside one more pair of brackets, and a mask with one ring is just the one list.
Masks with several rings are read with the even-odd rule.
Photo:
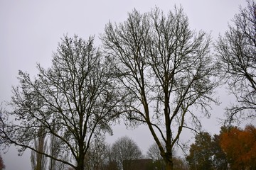
[[[115, 141], [111, 147], [112, 154], [119, 169], [130, 169], [131, 161], [142, 159], [142, 151], [139, 149], [136, 142], [132, 138], [124, 136]], [[124, 164], [124, 162], [126, 164]], [[125, 167], [124, 167], [125, 166]]]

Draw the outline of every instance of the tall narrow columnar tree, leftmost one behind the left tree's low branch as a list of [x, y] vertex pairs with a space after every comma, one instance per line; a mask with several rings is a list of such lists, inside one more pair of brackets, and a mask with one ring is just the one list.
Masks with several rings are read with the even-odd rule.
[[[34, 139], [35, 149], [39, 152], [47, 152], [46, 131], [43, 128], [38, 130], [38, 137]], [[47, 158], [43, 154], [31, 151], [32, 170], [44, 170], [47, 166]]]

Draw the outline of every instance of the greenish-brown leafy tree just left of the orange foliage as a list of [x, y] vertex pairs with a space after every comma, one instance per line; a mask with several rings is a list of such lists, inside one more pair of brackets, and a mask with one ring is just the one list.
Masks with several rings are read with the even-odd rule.
[[214, 169], [210, 134], [208, 132], [200, 132], [195, 138], [195, 142], [189, 149], [189, 155], [186, 157], [190, 169]]

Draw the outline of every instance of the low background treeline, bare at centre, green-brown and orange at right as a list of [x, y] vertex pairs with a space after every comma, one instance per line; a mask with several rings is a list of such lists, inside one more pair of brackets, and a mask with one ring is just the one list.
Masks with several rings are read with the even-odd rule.
[[[245, 129], [223, 126], [220, 133], [213, 136], [208, 132], [199, 132], [195, 142], [189, 146], [186, 157], [174, 154], [174, 169], [255, 169], [255, 141], [256, 128], [253, 125], [247, 125]], [[42, 163], [39, 169], [46, 169], [47, 163]], [[143, 167], [139, 165], [143, 163]], [[85, 169], [91, 170], [161, 170], [164, 167], [164, 159], [155, 143], [143, 155], [137, 143], [127, 136], [119, 137], [112, 145], [107, 144], [104, 137], [94, 139], [85, 155]], [[55, 164], [54, 169], [64, 170], [68, 167]]]

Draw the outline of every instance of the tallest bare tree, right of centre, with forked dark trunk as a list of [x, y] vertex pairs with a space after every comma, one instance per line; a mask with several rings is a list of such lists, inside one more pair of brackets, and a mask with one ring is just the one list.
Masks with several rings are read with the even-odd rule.
[[122, 111], [148, 126], [166, 169], [173, 169], [183, 128], [200, 125], [198, 113], [210, 115], [210, 102], [216, 102], [210, 35], [190, 30], [182, 8], [167, 16], [155, 8], [144, 14], [134, 9], [124, 23], [108, 23], [101, 39], [127, 99]]

